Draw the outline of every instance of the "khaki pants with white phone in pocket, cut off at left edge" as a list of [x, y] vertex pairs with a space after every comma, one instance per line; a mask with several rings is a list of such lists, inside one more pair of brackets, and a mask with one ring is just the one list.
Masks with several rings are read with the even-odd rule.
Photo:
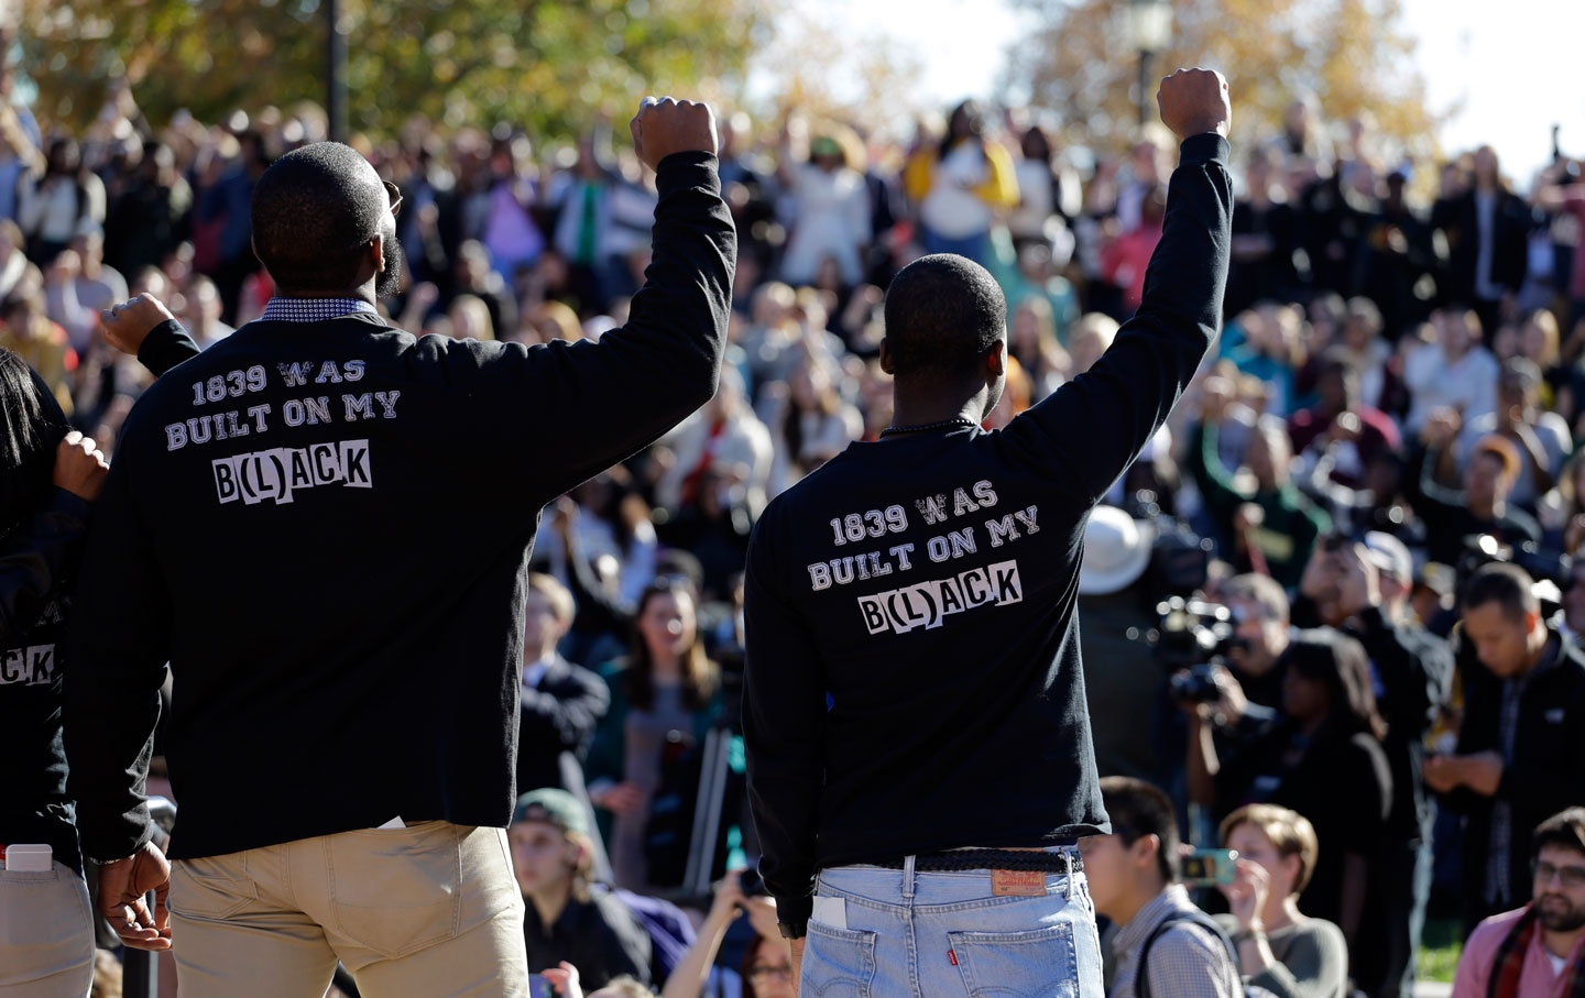
[[94, 984], [89, 886], [55, 862], [40, 873], [0, 870], [0, 996], [62, 998]]

